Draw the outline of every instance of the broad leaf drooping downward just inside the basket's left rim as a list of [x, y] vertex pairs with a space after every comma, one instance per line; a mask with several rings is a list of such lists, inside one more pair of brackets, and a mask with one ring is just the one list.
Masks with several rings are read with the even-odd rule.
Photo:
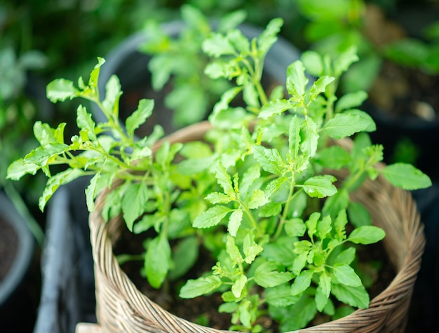
[[123, 219], [129, 231], [133, 231], [135, 220], [143, 214], [149, 198], [149, 190], [143, 182], [130, 184], [122, 198]]

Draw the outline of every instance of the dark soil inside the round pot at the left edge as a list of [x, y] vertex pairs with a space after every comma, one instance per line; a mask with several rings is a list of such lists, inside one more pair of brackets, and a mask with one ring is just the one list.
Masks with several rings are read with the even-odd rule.
[[0, 283], [14, 262], [17, 242], [18, 237], [13, 227], [0, 217]]

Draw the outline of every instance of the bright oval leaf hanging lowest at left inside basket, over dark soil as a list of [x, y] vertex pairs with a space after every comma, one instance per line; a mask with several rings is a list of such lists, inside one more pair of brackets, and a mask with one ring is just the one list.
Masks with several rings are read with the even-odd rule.
[[147, 245], [144, 269], [148, 283], [158, 289], [170, 268], [171, 250], [166, 237], [158, 236]]

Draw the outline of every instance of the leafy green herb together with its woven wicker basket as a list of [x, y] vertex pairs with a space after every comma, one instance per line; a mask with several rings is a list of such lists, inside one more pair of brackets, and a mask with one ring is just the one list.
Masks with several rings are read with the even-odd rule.
[[[431, 181], [412, 165], [381, 164], [383, 148], [367, 136], [374, 122], [356, 109], [361, 101], [355, 94], [337, 99], [340, 75], [358, 59], [355, 50], [334, 60], [305, 53], [288, 67], [286, 86], [267, 95], [264, 57], [281, 25], [272, 20], [252, 41], [238, 29], [210, 34], [203, 50], [213, 60], [205, 72], [236, 86], [222, 95], [208, 122], [169, 137], [157, 130], [135, 140], [152, 100], [140, 100], [121, 126], [117, 77], [107, 82], [104, 100], [98, 93], [102, 58], [88, 83], [48, 85], [53, 102], [83, 97], [107, 120], [95, 123], [79, 106], [79, 134], [69, 144], [65, 123], [50, 128], [37, 122], [41, 146], [13, 163], [8, 177], [43, 170], [49, 180], [41, 209], [58, 186], [92, 177], [86, 201], [97, 319], [105, 331], [219, 332], [230, 326], [285, 332], [316, 325], [318, 313], [329, 321], [315, 330], [404, 327], [424, 236], [410, 193], [394, 186], [416, 189]], [[305, 68], [318, 79], [310, 83]], [[239, 93], [246, 107], [231, 107]], [[60, 164], [68, 168], [52, 175], [50, 167]], [[211, 261], [178, 293], [183, 299], [219, 294], [219, 312], [229, 313], [231, 323], [204, 327], [142, 294], [114, 256], [122, 222], [147, 236], [140, 242], [142, 275], [152, 288], [172, 290], [195, 273], [197, 261]], [[357, 251], [383, 238], [396, 277], [370, 301]]]

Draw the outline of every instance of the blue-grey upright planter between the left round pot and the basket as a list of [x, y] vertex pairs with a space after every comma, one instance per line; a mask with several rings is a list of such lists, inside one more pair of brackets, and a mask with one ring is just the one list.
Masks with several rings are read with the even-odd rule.
[[77, 179], [61, 186], [50, 199], [34, 333], [73, 333], [77, 322], [96, 320], [85, 198], [88, 181]]

